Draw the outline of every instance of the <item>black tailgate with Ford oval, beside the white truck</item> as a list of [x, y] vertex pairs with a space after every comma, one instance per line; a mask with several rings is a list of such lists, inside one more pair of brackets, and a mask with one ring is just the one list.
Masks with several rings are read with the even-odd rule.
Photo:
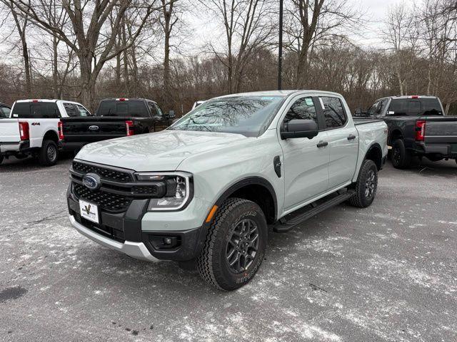
[[64, 141], [95, 142], [126, 136], [126, 120], [119, 117], [62, 118]]

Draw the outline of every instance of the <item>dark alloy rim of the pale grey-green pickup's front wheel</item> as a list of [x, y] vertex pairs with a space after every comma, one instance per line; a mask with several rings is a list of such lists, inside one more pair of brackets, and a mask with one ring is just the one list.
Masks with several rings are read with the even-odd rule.
[[226, 261], [235, 274], [246, 271], [256, 259], [258, 228], [252, 219], [242, 219], [231, 230], [227, 241]]

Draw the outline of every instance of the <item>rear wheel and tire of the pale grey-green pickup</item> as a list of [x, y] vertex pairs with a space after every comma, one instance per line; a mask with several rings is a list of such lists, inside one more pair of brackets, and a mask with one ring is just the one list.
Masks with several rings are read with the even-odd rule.
[[373, 160], [365, 160], [358, 172], [357, 182], [354, 187], [356, 193], [348, 202], [354, 207], [365, 208], [373, 203], [378, 189], [378, 167]]

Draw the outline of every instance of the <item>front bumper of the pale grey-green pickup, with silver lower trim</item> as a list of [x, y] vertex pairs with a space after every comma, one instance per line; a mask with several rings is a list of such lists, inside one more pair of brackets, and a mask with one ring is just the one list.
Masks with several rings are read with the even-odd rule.
[[[67, 203], [70, 222], [76, 230], [94, 242], [136, 259], [188, 261], [198, 257], [206, 239], [208, 227], [201, 225], [203, 220], [195, 217], [203, 207], [198, 205], [199, 199], [196, 198], [181, 212], [163, 213], [147, 212], [149, 200], [136, 199], [125, 212], [102, 210], [99, 215], [101, 224], [81, 218], [79, 200], [71, 192], [71, 185]], [[163, 215], [162, 220], [156, 216], [160, 214]], [[167, 220], [169, 214], [174, 214], [175, 219], [181, 217], [179, 224]], [[199, 222], [199, 225], [192, 226], [194, 222]], [[172, 248], [161, 243], [165, 238], [173, 240]]]

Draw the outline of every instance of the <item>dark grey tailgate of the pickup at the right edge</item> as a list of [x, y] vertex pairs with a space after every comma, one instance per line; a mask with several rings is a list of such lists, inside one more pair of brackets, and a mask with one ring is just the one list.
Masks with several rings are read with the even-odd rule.
[[[422, 120], [422, 118], [421, 118]], [[431, 144], [457, 144], [457, 117], [428, 116], [425, 118], [424, 140]]]

